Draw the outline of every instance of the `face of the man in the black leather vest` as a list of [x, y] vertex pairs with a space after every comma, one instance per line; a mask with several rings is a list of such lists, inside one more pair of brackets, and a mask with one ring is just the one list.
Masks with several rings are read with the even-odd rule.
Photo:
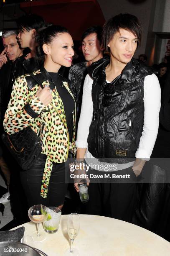
[[112, 59], [127, 64], [137, 49], [137, 38], [132, 32], [120, 28], [108, 46]]

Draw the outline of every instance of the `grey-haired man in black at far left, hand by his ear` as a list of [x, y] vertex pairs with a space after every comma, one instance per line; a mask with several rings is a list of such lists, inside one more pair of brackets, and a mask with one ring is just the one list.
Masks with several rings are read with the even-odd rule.
[[[4, 50], [0, 54], [0, 134], [3, 133], [3, 118], [8, 107], [8, 102], [10, 101], [15, 72], [18, 72], [18, 61], [16, 61], [16, 59], [23, 55], [23, 50], [20, 49], [16, 36], [17, 31], [14, 30], [6, 31], [2, 36]], [[7, 186], [9, 186], [10, 170], [3, 156], [0, 157], [0, 167], [3, 174], [5, 175]], [[0, 199], [0, 202], [8, 202], [8, 197], [9, 192], [3, 195], [3, 198]]]

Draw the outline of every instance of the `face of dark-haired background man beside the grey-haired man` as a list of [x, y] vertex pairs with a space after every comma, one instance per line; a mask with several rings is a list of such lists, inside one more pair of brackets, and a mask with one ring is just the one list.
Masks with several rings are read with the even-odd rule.
[[18, 33], [18, 41], [20, 43], [21, 48], [30, 47], [30, 43], [33, 40], [33, 31], [30, 30], [29, 32], [26, 30], [22, 30]]

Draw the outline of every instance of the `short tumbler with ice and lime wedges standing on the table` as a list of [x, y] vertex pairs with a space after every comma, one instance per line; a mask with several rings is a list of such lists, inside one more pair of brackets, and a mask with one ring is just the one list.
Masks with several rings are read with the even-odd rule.
[[43, 221], [44, 230], [47, 233], [53, 234], [58, 231], [61, 217], [61, 210], [57, 207], [48, 207], [48, 217]]

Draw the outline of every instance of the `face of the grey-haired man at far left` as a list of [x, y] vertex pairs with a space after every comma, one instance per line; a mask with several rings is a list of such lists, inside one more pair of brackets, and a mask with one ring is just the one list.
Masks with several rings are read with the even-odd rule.
[[6, 49], [5, 52], [8, 59], [11, 61], [14, 61], [15, 59], [23, 55], [23, 51], [20, 49], [20, 46], [17, 43], [16, 35], [3, 38], [3, 46]]

